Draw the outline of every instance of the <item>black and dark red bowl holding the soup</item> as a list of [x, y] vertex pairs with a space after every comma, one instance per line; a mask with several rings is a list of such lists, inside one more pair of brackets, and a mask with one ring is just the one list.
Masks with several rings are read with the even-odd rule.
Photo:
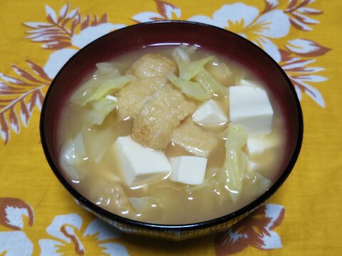
[[[148, 46], [187, 43], [212, 50], [236, 60], [261, 79], [284, 115], [286, 131], [285, 156], [273, 186], [247, 206], [220, 218], [181, 225], [143, 223], [123, 218], [99, 208], [78, 193], [68, 182], [58, 162], [58, 117], [63, 103], [79, 82], [99, 63], [118, 55]], [[274, 194], [289, 176], [301, 149], [303, 117], [293, 85], [279, 65], [263, 50], [245, 38], [222, 28], [187, 21], [156, 21], [128, 26], [90, 43], [71, 58], [60, 70], [46, 94], [41, 111], [41, 142], [48, 164], [63, 186], [81, 206], [125, 233], [167, 240], [184, 240], [217, 233], [242, 220]], [[191, 213], [186, 213], [191, 214]]]

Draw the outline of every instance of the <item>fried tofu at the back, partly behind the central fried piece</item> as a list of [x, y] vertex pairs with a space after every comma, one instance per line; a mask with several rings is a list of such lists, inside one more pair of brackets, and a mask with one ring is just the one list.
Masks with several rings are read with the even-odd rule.
[[135, 117], [149, 96], [167, 82], [167, 73], [174, 73], [175, 63], [159, 54], [146, 54], [133, 63], [129, 73], [137, 80], [118, 92], [120, 117]]

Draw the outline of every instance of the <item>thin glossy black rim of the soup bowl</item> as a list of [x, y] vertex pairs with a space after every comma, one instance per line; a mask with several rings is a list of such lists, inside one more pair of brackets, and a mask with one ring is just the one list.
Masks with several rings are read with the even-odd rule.
[[[276, 181], [272, 184], [272, 186], [268, 190], [266, 190], [263, 194], [261, 194], [261, 196], [256, 198], [254, 201], [248, 203], [246, 206], [244, 206], [242, 208], [239, 208], [239, 210], [235, 210], [234, 212], [229, 213], [227, 215], [223, 215], [223, 216], [221, 216], [219, 218], [214, 218], [214, 219], [211, 219], [211, 220], [204, 220], [204, 221], [197, 222], [197, 223], [185, 223], [185, 224], [178, 224], [178, 225], [177, 224], [176, 225], [168, 225], [168, 224], [155, 224], [155, 223], [142, 222], [142, 221], [139, 221], [139, 220], [132, 220], [130, 218], [125, 218], [123, 216], [116, 215], [115, 213], [110, 213], [108, 210], [105, 210], [103, 208], [100, 208], [99, 206], [96, 206], [94, 203], [92, 203], [87, 198], [82, 196], [81, 193], [76, 191], [76, 189], [73, 188], [73, 186], [71, 186], [70, 183], [68, 183], [66, 178], [63, 177], [63, 175], [61, 174], [61, 171], [58, 171], [58, 168], [57, 168], [56, 164], [54, 163], [53, 158], [52, 158], [50, 152], [48, 151], [48, 144], [46, 142], [46, 136], [45, 136], [46, 132], [45, 132], [45, 129], [44, 129], [46, 105], [47, 105], [48, 99], [49, 99], [49, 97], [51, 95], [51, 90], [52, 90], [53, 86], [55, 86], [55, 84], [56, 84], [56, 80], [58, 80], [58, 77], [63, 72], [63, 70], [68, 68], [68, 64], [71, 63], [74, 58], [77, 58], [78, 55], [83, 53], [83, 51], [87, 50], [87, 48], [90, 45], [93, 45], [97, 41], [102, 40], [103, 38], [109, 36], [112, 33], [118, 33], [118, 31], [138, 28], [140, 26], [152, 26], [153, 24], [156, 24], [156, 23], [158, 23], [158, 24], [165, 23], [166, 26], [167, 26], [168, 23], [187, 23], [187, 24], [190, 24], [190, 25], [193, 25], [193, 26], [201, 26], [201, 27], [207, 26], [207, 27], [211, 27], [212, 29], [217, 29], [218, 31], [221, 31], [221, 32], [224, 31], [224, 33], [231, 33], [232, 36], [239, 37], [240, 40], [246, 41], [251, 47], [257, 48], [257, 50], [259, 50], [261, 53], [263, 53], [266, 56], [266, 58], [268, 58], [274, 64], [274, 68], [277, 68], [281, 72], [281, 75], [284, 76], [287, 84], [290, 87], [292, 95], [294, 96], [294, 100], [296, 102], [296, 110], [297, 110], [297, 114], [298, 114], [299, 129], [298, 129], [298, 133], [296, 134], [296, 136], [297, 136], [296, 147], [294, 148], [294, 152], [293, 152], [293, 154], [291, 156], [291, 159], [289, 160], [289, 164], [287, 164], [287, 166], [286, 166], [286, 169], [284, 169], [284, 171], [281, 173], [279, 178], [277, 178]], [[194, 22], [194, 21], [170, 21], [170, 20], [167, 20], [167, 21], [150, 21], [150, 22], [146, 22], [146, 23], [138, 23], [138, 24], [133, 24], [133, 25], [130, 25], [130, 26], [126, 26], [124, 28], [120, 28], [120, 29], [112, 31], [112, 32], [110, 32], [110, 33], [108, 33], [108, 34], [106, 34], [104, 36], [101, 36], [100, 38], [95, 39], [95, 41], [92, 41], [87, 46], [81, 48], [81, 50], [78, 50], [78, 52], [75, 53], [63, 65], [63, 67], [58, 71], [58, 73], [55, 76], [55, 78], [53, 78], [53, 81], [51, 82], [51, 85], [48, 87], [48, 91], [46, 92], [46, 96], [44, 98], [43, 105], [42, 105], [42, 108], [41, 108], [41, 116], [40, 116], [39, 129], [40, 129], [41, 144], [42, 144], [42, 147], [43, 147], [43, 152], [44, 152], [44, 154], [46, 156], [46, 160], [48, 161], [49, 166], [51, 167], [53, 173], [56, 175], [58, 180], [62, 183], [64, 188], [66, 188], [68, 193], [71, 193], [71, 196], [73, 196], [73, 198], [75, 198], [76, 201], [78, 201], [78, 203], [80, 203], [83, 207], [86, 207], [91, 212], [96, 213], [96, 215], [104, 216], [105, 218], [108, 218], [111, 221], [114, 221], [114, 222], [117, 222], [117, 223], [123, 223], [125, 225], [131, 225], [131, 226], [134, 226], [136, 228], [144, 228], [144, 229], [147, 229], [147, 230], [155, 230], [155, 231], [180, 232], [180, 231], [186, 231], [186, 230], [200, 230], [200, 229], [203, 229], [203, 228], [213, 227], [215, 225], [219, 225], [219, 224], [222, 224], [222, 223], [227, 223], [229, 220], [233, 220], [234, 218], [237, 218], [237, 217], [242, 216], [242, 215], [244, 215], [246, 213], [249, 213], [250, 211], [252, 211], [255, 208], [257, 208], [258, 206], [260, 206], [261, 203], [264, 203], [264, 201], [266, 201], [269, 197], [271, 197], [279, 189], [281, 184], [284, 183], [286, 178], [289, 176], [289, 174], [291, 173], [292, 169], [294, 168], [294, 164], [296, 163], [296, 160], [298, 159], [299, 152], [301, 150], [301, 144], [303, 142], [304, 122], [303, 122], [303, 113], [302, 113], [302, 110], [301, 110], [301, 105], [300, 105], [300, 102], [299, 102], [299, 98], [298, 98], [298, 96], [296, 94], [296, 90], [294, 89], [294, 85], [292, 85], [291, 80], [286, 75], [284, 70], [280, 67], [280, 65], [278, 63], [276, 63], [276, 61], [273, 58], [271, 58], [271, 56], [269, 54], [267, 54], [264, 50], [259, 48], [259, 46], [255, 45], [254, 43], [252, 43], [251, 41], [247, 40], [246, 38], [244, 38], [242, 36], [239, 36], [237, 33], [233, 33], [231, 31], [227, 31], [226, 29], [219, 28], [217, 26], [212, 26], [212, 25], [209, 25], [209, 24], [206, 24], [206, 23], [199, 23], [199, 22]]]

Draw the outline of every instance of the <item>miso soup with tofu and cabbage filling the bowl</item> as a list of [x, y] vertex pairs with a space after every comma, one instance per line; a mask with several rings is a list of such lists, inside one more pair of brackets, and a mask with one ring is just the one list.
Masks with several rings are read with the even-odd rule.
[[[242, 101], [249, 91], [266, 101], [240, 111], [232, 87], [245, 93]], [[242, 113], [249, 108], [251, 116]], [[263, 82], [195, 46], [150, 47], [98, 63], [71, 93], [60, 124], [60, 165], [77, 191], [112, 213], [171, 225], [219, 218], [256, 199], [277, 178], [286, 140]], [[125, 141], [133, 146], [124, 149]], [[130, 150], [136, 155], [125, 156]], [[151, 151], [162, 160], [129, 163]], [[152, 173], [142, 168], [151, 164]]]

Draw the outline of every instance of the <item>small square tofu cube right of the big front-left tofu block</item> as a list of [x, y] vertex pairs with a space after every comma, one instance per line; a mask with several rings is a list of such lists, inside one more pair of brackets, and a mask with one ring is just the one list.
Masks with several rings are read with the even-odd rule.
[[204, 181], [207, 159], [199, 156], [177, 156], [170, 159], [171, 181], [199, 185]]

